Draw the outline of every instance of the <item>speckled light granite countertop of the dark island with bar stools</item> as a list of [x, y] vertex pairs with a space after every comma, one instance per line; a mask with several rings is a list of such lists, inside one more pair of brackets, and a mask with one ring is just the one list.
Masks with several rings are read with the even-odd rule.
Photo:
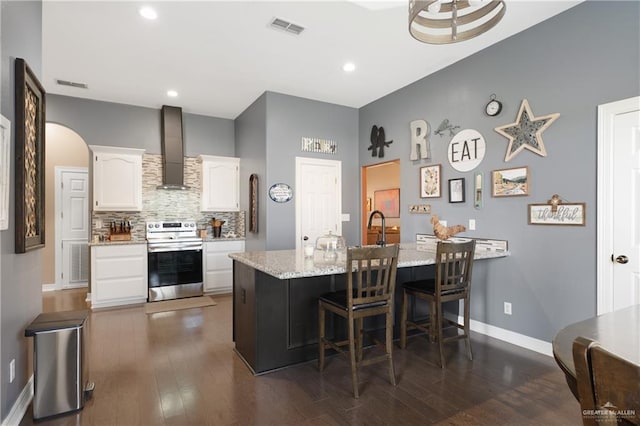
[[[398, 268], [433, 265], [435, 254], [434, 246], [400, 244]], [[335, 261], [325, 261], [323, 255], [324, 252], [316, 250], [312, 258], [306, 258], [302, 250], [273, 250], [231, 253], [229, 257], [282, 280], [345, 272], [344, 252], [339, 253]], [[508, 251], [476, 250], [474, 259], [493, 259], [509, 255]]]

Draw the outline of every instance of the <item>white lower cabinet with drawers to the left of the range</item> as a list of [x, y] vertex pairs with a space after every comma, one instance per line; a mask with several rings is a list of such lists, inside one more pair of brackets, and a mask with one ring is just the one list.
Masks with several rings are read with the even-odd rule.
[[147, 245], [91, 247], [91, 308], [147, 301]]

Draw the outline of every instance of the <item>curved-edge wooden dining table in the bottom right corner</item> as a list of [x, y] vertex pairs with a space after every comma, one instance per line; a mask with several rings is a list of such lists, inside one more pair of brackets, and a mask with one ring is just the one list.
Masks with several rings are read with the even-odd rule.
[[596, 340], [608, 351], [640, 364], [640, 305], [571, 324], [553, 339], [553, 356], [576, 398], [578, 390], [572, 350], [578, 336]]

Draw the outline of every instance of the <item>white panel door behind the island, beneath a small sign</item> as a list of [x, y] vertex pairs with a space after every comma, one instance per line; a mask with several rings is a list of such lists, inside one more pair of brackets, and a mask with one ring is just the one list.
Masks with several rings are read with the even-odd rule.
[[296, 157], [296, 248], [304, 237], [342, 235], [342, 162]]

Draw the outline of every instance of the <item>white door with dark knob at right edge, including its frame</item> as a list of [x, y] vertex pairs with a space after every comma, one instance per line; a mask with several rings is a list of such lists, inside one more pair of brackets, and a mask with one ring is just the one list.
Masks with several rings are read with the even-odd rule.
[[598, 107], [598, 314], [640, 304], [640, 97]]

